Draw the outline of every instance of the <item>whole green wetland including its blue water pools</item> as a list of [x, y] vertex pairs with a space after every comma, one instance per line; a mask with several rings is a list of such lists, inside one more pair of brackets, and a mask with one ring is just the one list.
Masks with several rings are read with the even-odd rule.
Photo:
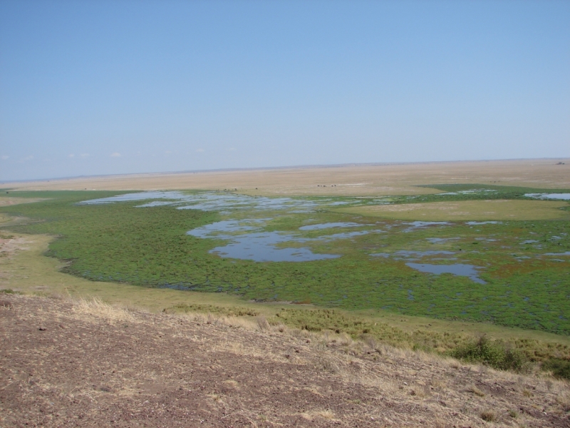
[[[26, 219], [11, 223], [16, 232], [58, 236], [47, 254], [88, 280], [569, 334], [569, 205], [525, 196], [566, 191], [431, 186], [440, 193], [382, 198], [11, 191], [38, 202], [0, 210]], [[516, 212], [519, 202], [546, 205], [523, 207], [527, 220], [481, 218], [489, 195]], [[348, 212], [462, 201], [471, 217]], [[543, 209], [557, 217], [532, 219]]]

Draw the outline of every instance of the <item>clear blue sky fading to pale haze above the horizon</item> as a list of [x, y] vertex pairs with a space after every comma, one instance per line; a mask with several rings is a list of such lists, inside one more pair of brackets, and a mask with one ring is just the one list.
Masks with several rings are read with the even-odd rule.
[[0, 180], [570, 156], [570, 1], [0, 1]]

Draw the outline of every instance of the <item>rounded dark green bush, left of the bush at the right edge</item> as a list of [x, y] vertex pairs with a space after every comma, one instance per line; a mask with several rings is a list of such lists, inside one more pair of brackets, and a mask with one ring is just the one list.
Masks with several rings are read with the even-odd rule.
[[490, 341], [481, 336], [477, 342], [457, 347], [450, 352], [452, 357], [469, 362], [480, 362], [499, 370], [519, 371], [524, 366], [524, 356], [500, 340]]

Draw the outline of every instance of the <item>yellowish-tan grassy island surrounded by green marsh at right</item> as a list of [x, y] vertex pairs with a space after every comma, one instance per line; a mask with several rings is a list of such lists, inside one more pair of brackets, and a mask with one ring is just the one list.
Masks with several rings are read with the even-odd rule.
[[551, 200], [462, 200], [368, 205], [336, 211], [396, 220], [555, 220], [570, 219], [570, 212], [560, 209], [567, 206], [566, 202]]

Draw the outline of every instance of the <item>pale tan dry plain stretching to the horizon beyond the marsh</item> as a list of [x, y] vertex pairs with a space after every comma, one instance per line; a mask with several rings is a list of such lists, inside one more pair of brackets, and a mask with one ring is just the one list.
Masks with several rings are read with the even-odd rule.
[[[558, 165], [559, 162], [564, 165]], [[437, 193], [411, 187], [435, 183], [570, 188], [570, 161], [434, 162], [108, 175], [0, 186], [19, 190], [237, 189], [252, 195], [412, 195]]]

